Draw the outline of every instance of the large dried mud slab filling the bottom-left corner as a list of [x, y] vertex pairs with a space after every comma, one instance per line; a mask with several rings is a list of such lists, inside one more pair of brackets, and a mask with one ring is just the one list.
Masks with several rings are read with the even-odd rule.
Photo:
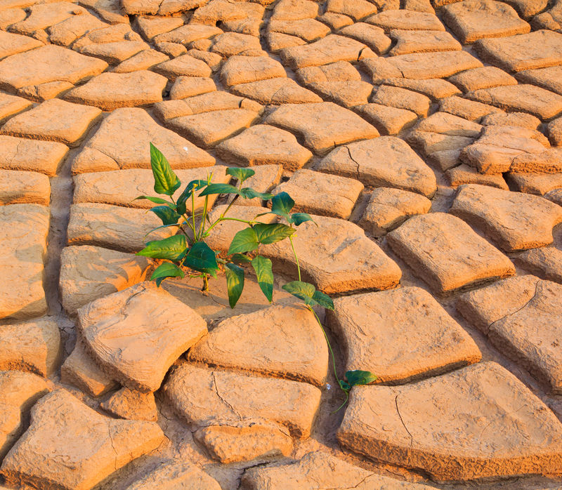
[[32, 408], [30, 428], [4, 458], [1, 472], [10, 485], [86, 490], [163, 440], [154, 422], [117, 421], [55, 390]]

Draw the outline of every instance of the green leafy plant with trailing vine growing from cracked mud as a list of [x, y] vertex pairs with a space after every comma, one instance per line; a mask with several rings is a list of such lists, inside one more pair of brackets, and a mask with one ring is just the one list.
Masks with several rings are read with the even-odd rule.
[[[277, 241], [289, 239], [299, 279], [285, 284], [282, 288], [303, 301], [320, 325], [322, 333], [324, 333], [332, 357], [334, 375], [339, 388], [346, 395], [344, 404], [339, 409], [346, 404], [348, 393], [353, 385], [368, 384], [377, 379], [374, 374], [368, 371], [347, 371], [347, 381], [340, 380], [338, 377], [332, 345], [330, 345], [322, 322], [320, 322], [314, 310], [315, 306], [334, 310], [334, 302], [327, 294], [318, 291], [313, 284], [301, 280], [299, 257], [296, 255], [293, 242], [296, 227], [306, 221], [314, 223], [314, 220], [307, 213], [291, 213], [292, 208], [294, 208], [294, 201], [287, 192], [281, 192], [274, 196], [273, 194], [257, 192], [250, 187], [242, 187], [244, 181], [253, 176], [255, 172], [250, 168], [228, 167], [226, 173], [237, 179], [237, 187], [230, 184], [213, 183], [211, 174], [207, 176], [206, 180], [192, 180], [175, 200], [174, 194], [181, 187], [181, 182], [171, 169], [164, 154], [152, 143], [150, 143], [150, 165], [155, 180], [155, 192], [168, 196], [169, 200], [150, 196], [139, 196], [136, 199], [148, 199], [157, 204], [150, 211], [162, 220], [162, 226], [155, 228], [155, 230], [164, 227], [177, 227], [179, 231], [178, 234], [171, 237], [149, 241], [145, 248], [138, 252], [137, 255], [140, 256], [165, 260], [152, 273], [150, 280], [154, 280], [157, 286], [160, 286], [164, 279], [168, 277], [183, 278], [188, 271], [188, 277], [197, 277], [203, 280], [202, 291], [209, 291], [209, 278], [216, 278], [219, 271], [224, 271], [228, 302], [230, 307], [233, 308], [244, 289], [244, 268], [241, 265], [246, 263], [253, 267], [259, 287], [271, 303], [273, 301], [274, 282], [272, 263], [270, 259], [259, 255], [256, 251], [258, 251], [260, 245], [274, 244]], [[205, 198], [202, 211], [199, 212], [197, 212], [195, 206], [196, 192], [198, 193], [197, 197]], [[233, 194], [233, 199], [226, 210], [211, 222], [209, 219], [209, 196], [213, 194]], [[271, 201], [271, 210], [255, 216], [252, 220], [226, 216], [237, 199], [253, 199], [255, 197], [264, 201]], [[257, 220], [260, 216], [268, 213], [280, 216], [287, 224], [260, 223]], [[209, 237], [209, 233], [216, 225], [228, 220], [245, 223], [247, 227], [235, 234], [225, 255], [211, 249], [205, 239]]]

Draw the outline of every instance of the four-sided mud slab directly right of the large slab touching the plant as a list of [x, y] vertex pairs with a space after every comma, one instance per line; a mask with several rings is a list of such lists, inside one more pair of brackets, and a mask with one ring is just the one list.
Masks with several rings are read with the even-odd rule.
[[438, 294], [515, 274], [507, 256], [450, 214], [413, 216], [386, 239], [414, 274]]

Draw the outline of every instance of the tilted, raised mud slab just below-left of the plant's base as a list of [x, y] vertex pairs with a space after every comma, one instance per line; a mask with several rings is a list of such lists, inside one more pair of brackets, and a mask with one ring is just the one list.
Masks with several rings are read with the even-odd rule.
[[154, 284], [137, 284], [78, 310], [78, 330], [103, 371], [131, 390], [154, 392], [207, 322]]

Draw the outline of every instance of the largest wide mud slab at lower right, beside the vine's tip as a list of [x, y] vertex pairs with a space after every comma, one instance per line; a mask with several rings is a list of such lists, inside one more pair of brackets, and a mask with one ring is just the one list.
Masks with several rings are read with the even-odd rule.
[[481, 362], [399, 387], [353, 388], [340, 444], [438, 481], [559, 471], [562, 425], [507, 369]]

